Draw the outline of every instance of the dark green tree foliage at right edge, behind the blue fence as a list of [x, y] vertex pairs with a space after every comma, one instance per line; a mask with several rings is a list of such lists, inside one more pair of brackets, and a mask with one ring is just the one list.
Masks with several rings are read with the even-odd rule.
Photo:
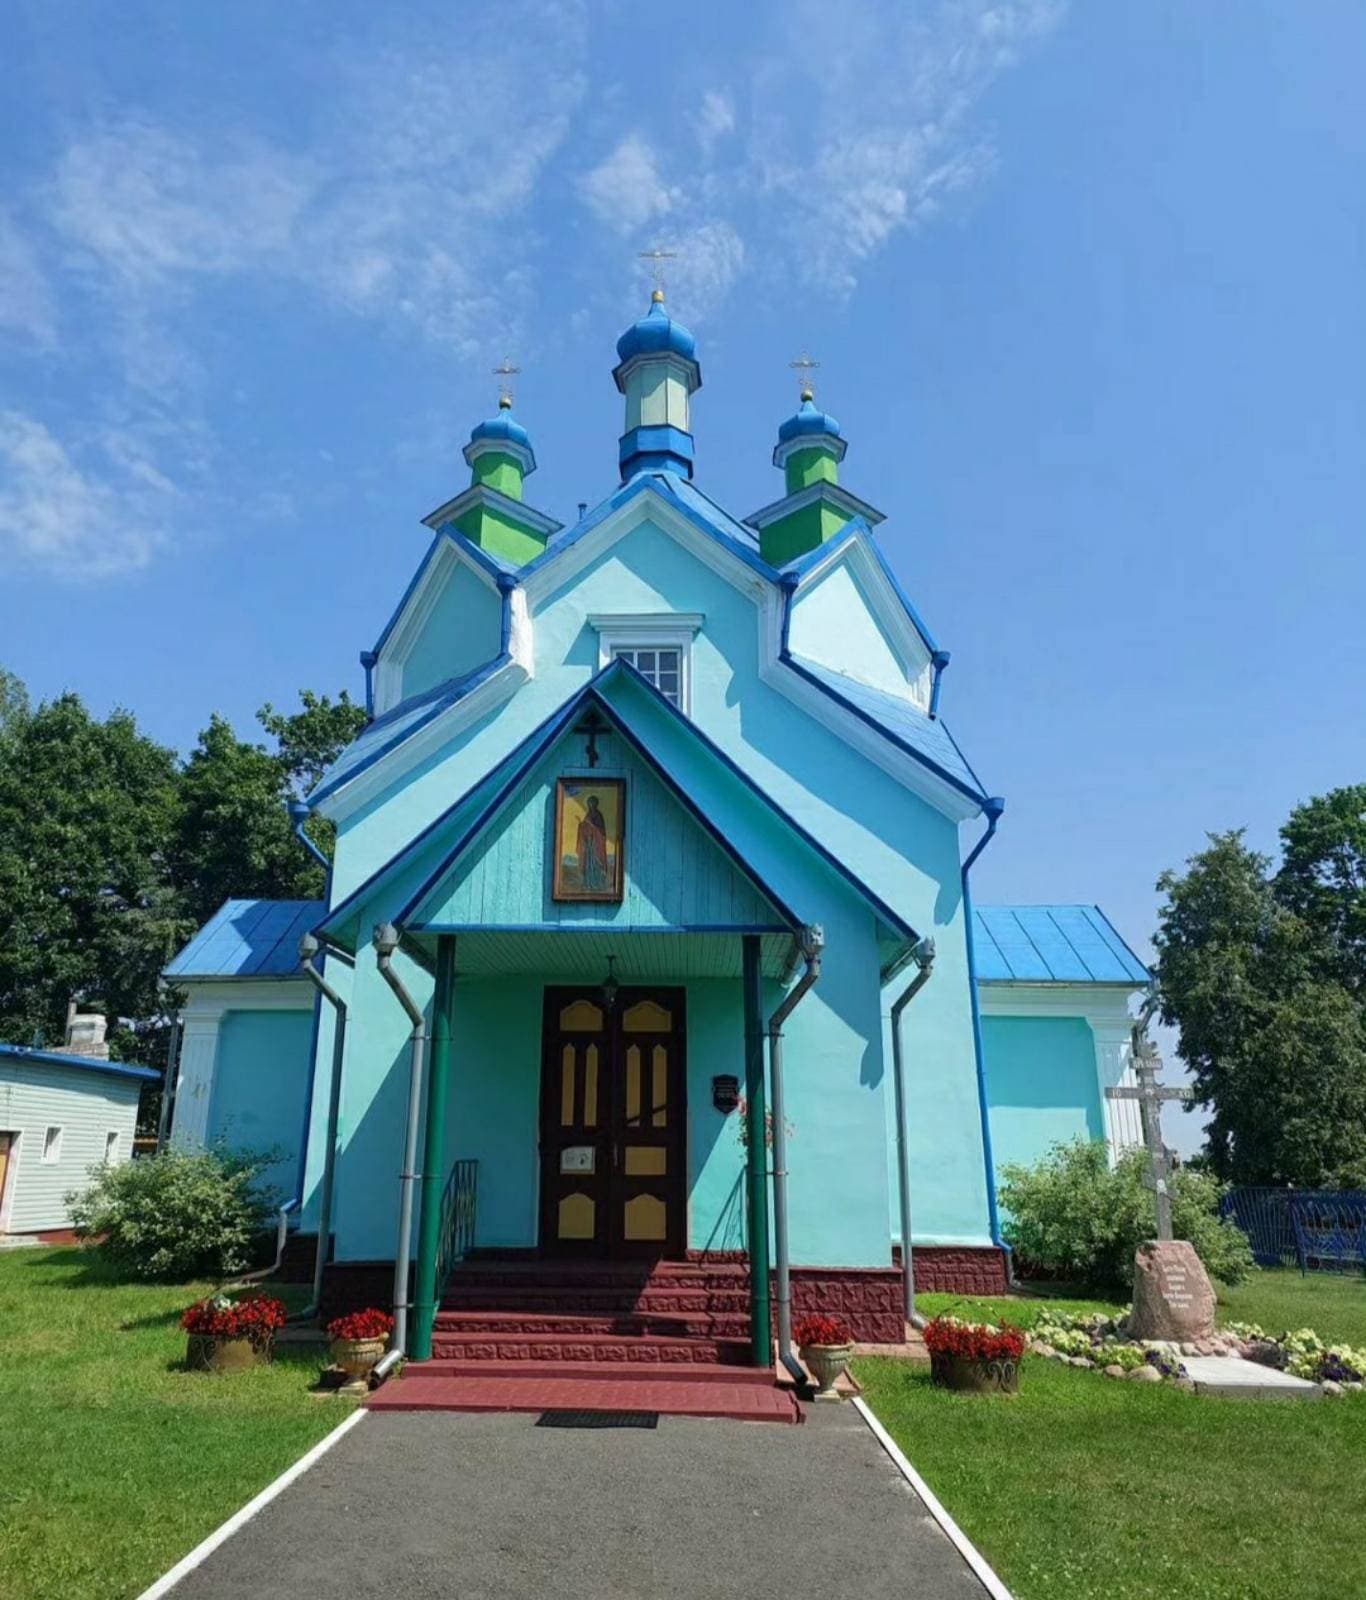
[[1297, 806], [1281, 866], [1214, 834], [1158, 880], [1158, 986], [1214, 1171], [1366, 1184], [1366, 786]]

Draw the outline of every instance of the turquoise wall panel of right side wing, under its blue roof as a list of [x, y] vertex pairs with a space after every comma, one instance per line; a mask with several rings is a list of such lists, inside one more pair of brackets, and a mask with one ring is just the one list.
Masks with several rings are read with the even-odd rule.
[[1054, 1144], [1104, 1139], [1096, 1046], [1080, 1016], [984, 1016], [997, 1171]]

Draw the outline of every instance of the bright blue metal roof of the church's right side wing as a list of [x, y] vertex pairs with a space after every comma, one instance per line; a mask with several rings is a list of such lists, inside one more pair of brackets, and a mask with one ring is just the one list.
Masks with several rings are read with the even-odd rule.
[[1129, 984], [1148, 970], [1099, 906], [979, 906], [977, 982]]

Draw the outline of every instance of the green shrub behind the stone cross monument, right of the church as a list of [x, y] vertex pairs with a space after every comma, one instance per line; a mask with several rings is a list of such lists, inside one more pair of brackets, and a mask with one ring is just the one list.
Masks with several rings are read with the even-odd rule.
[[[1134, 1282], [1134, 1251], [1153, 1237], [1147, 1155], [1129, 1150], [1110, 1166], [1102, 1141], [1057, 1144], [1033, 1166], [1005, 1166], [1003, 1230], [1027, 1270], [1088, 1283]], [[1252, 1270], [1248, 1235], [1219, 1216], [1222, 1187], [1182, 1166], [1169, 1179], [1172, 1232], [1195, 1245], [1211, 1277], [1241, 1283]]]

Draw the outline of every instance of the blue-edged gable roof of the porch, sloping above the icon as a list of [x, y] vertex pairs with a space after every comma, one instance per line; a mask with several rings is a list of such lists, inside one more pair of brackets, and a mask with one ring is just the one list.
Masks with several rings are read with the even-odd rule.
[[[441, 853], [440, 862], [425, 874], [414, 893], [409, 893], [403, 909], [393, 917], [400, 925], [413, 918], [429, 898], [435, 885], [451, 872], [459, 858], [485, 834], [493, 819], [499, 814], [509, 797], [517, 792], [533, 766], [547, 754], [550, 746], [573, 725], [579, 714], [589, 706], [595, 706], [627, 739], [635, 754], [646, 762], [665, 789], [680, 805], [685, 806], [720, 850], [731, 858], [739, 870], [768, 899], [792, 931], [801, 926], [798, 912], [787, 906], [785, 899], [765, 880], [765, 877], [736, 848], [734, 842], [723, 832], [694, 800], [677, 774], [669, 770], [659, 750], [653, 747], [648, 730], [632, 717], [605, 691], [614, 683], [630, 683], [645, 693], [649, 704], [662, 707], [678, 728], [686, 731], [693, 747], [704, 758], [717, 763], [733, 778], [749, 797], [766, 814], [781, 821], [784, 829], [805, 846], [808, 846], [837, 877], [840, 877], [856, 894], [859, 894], [873, 915], [880, 920], [889, 938], [902, 944], [917, 939], [915, 930], [899, 917], [873, 890], [869, 888], [849, 867], [833, 856], [825, 846], [801, 827], [795, 818], [789, 816], [742, 768], [739, 768], [702, 730], [686, 718], [675, 706], [648, 683], [635, 667], [617, 658], [601, 669], [576, 694], [571, 694], [563, 706], [534, 728], [502, 762], [486, 773], [473, 789], [448, 806], [435, 821], [387, 861], [377, 872], [355, 888], [333, 912], [330, 912], [315, 928], [320, 938], [330, 942], [353, 947], [358, 942], [358, 931], [350, 926], [360, 909], [374, 898], [385, 885], [393, 883], [406, 870], [411, 870], [421, 853], [443, 834], [451, 835], [451, 845]], [[350, 944], [347, 944], [350, 941]]]

